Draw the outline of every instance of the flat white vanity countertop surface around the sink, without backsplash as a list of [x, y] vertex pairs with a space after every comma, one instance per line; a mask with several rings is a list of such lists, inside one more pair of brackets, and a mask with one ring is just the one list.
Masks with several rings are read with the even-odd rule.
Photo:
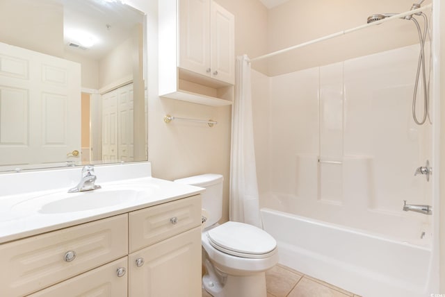
[[[114, 180], [97, 184], [101, 185], [102, 189], [74, 195], [82, 195], [82, 199], [94, 199], [99, 195], [101, 199], [106, 199], [108, 193], [111, 195], [111, 192], [117, 191], [120, 192], [120, 200], [104, 207], [99, 205], [92, 209], [88, 209], [88, 207], [79, 209], [79, 207], [76, 208], [77, 205], [73, 202], [75, 200], [72, 199], [72, 196], [67, 194], [66, 187], [0, 196], [0, 244], [204, 192], [204, 189], [200, 187], [181, 185], [152, 177]], [[125, 192], [127, 190], [132, 194], [128, 199], [127, 192]], [[90, 196], [88, 197], [88, 195]], [[60, 207], [60, 201], [63, 199], [70, 199], [74, 211], [69, 210], [71, 207], [66, 207], [66, 203]], [[48, 211], [44, 206], [49, 203], [53, 203], [55, 207]]]

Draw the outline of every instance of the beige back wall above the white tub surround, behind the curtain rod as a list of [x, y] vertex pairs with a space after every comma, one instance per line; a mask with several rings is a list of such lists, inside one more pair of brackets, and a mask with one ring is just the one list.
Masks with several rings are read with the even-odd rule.
[[[430, 2], [426, 1], [423, 5]], [[405, 12], [410, 10], [411, 5], [411, 0], [290, 0], [269, 12], [268, 51], [361, 26], [366, 24], [369, 15], [376, 13]], [[270, 58], [267, 74], [285, 74], [414, 44], [418, 42], [416, 32], [413, 22], [402, 20], [385, 26], [373, 26]]]

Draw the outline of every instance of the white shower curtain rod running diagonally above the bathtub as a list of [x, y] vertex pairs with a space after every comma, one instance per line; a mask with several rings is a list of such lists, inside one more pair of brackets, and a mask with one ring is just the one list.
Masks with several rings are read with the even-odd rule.
[[364, 28], [368, 28], [370, 26], [375, 26], [375, 25], [378, 25], [378, 24], [389, 22], [389, 21], [391, 21], [393, 19], [406, 17], [407, 15], [413, 15], [416, 12], [421, 12], [423, 10], [427, 10], [428, 8], [432, 8], [432, 4], [428, 4], [427, 6], [423, 6], [421, 8], [409, 10], [407, 12], [402, 12], [402, 13], [399, 13], [398, 15], [393, 15], [392, 17], [387, 17], [385, 19], [380, 19], [380, 21], [372, 22], [370, 24], [364, 24], [362, 26], [357, 26], [355, 28], [350, 28], [350, 29], [343, 30], [343, 31], [340, 31], [340, 32], [337, 32], [337, 33], [333, 33], [333, 34], [330, 34], [330, 35], [326, 35], [324, 37], [320, 37], [320, 38], [317, 38], [317, 39], [314, 39], [314, 40], [311, 40], [311, 41], [308, 41], [308, 42], [303, 42], [303, 43], [300, 43], [298, 45], [290, 46], [290, 47], [288, 47], [286, 49], [280, 49], [279, 51], [273, 51], [272, 53], [267, 53], [266, 55], [250, 59], [250, 62], [254, 62], [254, 61], [263, 60], [263, 59], [266, 59], [266, 58], [269, 58], [269, 57], [277, 56], [280, 53], [286, 53], [286, 51], [291, 51], [293, 49], [299, 49], [300, 47], [304, 47], [304, 46], [307, 46], [307, 45], [310, 45], [310, 44], [314, 44], [314, 43], [317, 43], [317, 42], [321, 42], [321, 41], [324, 41], [324, 40], [330, 40], [330, 39], [332, 39], [334, 37], [338, 37], [338, 36], [341, 36], [341, 35], [346, 35], [348, 33], [353, 33], [355, 31], [359, 31], [359, 30], [362, 30]]

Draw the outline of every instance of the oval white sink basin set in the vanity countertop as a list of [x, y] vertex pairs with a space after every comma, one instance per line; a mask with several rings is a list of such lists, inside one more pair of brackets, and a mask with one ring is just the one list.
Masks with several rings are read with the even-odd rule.
[[116, 205], [131, 205], [134, 201], [152, 194], [152, 187], [109, 187], [93, 191], [66, 193], [55, 192], [21, 201], [11, 212], [22, 217], [24, 214], [62, 214], [98, 210]]

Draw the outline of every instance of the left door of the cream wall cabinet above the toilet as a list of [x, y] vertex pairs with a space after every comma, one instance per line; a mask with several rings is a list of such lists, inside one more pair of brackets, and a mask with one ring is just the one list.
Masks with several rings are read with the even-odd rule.
[[209, 76], [210, 0], [178, 0], [178, 67]]

